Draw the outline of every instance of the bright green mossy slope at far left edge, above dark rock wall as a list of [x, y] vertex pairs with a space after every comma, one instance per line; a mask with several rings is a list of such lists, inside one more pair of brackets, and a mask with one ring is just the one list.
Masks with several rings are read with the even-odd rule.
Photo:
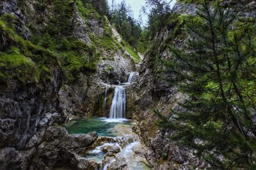
[[23, 83], [51, 80], [52, 65], [57, 65], [56, 55], [41, 46], [33, 45], [14, 31], [15, 17], [10, 14], [0, 18], [1, 55], [0, 81], [16, 79]]

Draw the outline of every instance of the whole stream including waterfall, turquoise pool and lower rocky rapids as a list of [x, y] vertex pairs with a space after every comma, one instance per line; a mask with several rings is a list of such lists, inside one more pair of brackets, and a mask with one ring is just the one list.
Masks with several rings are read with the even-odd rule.
[[[132, 131], [135, 124], [125, 119], [125, 87], [132, 83], [133, 75], [134, 73], [129, 74], [126, 83], [115, 85], [109, 118], [79, 118], [64, 125], [69, 134], [98, 133], [99, 139], [92, 148], [81, 153], [83, 157], [99, 165], [95, 169], [150, 169], [143, 156], [147, 148]], [[105, 88], [104, 111], [110, 87], [106, 85]]]

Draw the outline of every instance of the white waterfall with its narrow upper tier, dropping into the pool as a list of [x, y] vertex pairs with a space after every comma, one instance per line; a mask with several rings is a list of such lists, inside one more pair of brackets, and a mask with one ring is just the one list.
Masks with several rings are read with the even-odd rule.
[[[124, 85], [129, 85], [132, 82], [133, 72], [129, 74], [127, 83]], [[123, 85], [118, 85], [115, 88], [115, 95], [111, 104], [109, 118], [125, 118], [125, 106], [126, 106], [126, 94]]]

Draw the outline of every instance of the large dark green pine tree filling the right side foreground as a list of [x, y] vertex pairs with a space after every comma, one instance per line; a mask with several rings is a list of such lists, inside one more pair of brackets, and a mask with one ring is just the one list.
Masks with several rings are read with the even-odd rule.
[[184, 20], [184, 50], [170, 46], [173, 58], [163, 61], [170, 81], [189, 96], [180, 104], [186, 111], [172, 110], [172, 120], [156, 113], [176, 132], [171, 138], [212, 167], [255, 169], [255, 17], [219, 1], [201, 7]]

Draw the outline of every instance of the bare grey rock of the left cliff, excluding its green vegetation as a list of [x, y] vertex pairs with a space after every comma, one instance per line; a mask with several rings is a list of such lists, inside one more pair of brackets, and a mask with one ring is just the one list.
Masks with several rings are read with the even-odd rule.
[[[20, 2], [22, 7], [19, 6]], [[31, 32], [42, 32], [54, 14], [52, 1], [41, 2], [1, 1], [0, 15], [15, 15], [19, 22], [16, 31], [29, 39]], [[88, 24], [77, 8], [72, 11], [72, 16], [70, 23], [74, 29], [70, 36], [87, 45], [92, 45], [88, 30], [99, 39], [105, 31], [104, 25], [97, 20], [99, 18], [91, 17]], [[28, 25], [32, 25], [35, 30], [29, 31]], [[97, 167], [95, 162], [79, 156], [80, 152], [93, 145], [97, 134], [68, 135], [58, 125], [78, 116], [108, 117], [108, 111], [102, 111], [103, 100], [99, 100], [104, 96], [106, 84], [125, 81], [128, 74], [134, 71], [134, 61], [123, 47], [115, 51], [105, 50], [101, 46], [99, 48], [101, 58], [97, 71], [81, 73], [79, 80], [73, 84], [63, 84], [61, 67], [56, 64], [51, 66], [52, 80], [48, 82], [22, 83], [11, 80], [8, 86], [0, 85], [0, 169]], [[109, 89], [109, 96], [112, 91]], [[111, 97], [108, 100], [110, 104]], [[112, 148], [110, 152], [118, 151]]]

